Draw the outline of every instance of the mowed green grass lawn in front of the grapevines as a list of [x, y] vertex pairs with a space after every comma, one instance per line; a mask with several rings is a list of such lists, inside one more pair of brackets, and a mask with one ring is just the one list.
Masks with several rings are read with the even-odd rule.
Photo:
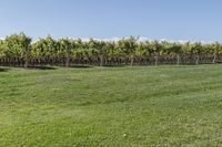
[[222, 65], [1, 67], [0, 146], [222, 146]]

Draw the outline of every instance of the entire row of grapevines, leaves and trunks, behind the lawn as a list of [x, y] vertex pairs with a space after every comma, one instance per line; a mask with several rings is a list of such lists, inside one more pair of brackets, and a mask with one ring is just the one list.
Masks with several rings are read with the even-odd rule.
[[222, 44], [201, 42], [140, 41], [139, 36], [118, 41], [53, 39], [32, 41], [24, 33], [0, 40], [0, 65], [159, 65], [221, 63]]

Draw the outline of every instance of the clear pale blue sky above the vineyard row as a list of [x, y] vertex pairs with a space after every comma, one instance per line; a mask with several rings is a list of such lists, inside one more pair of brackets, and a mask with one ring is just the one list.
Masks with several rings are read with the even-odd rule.
[[0, 38], [220, 41], [222, 0], [0, 0]]

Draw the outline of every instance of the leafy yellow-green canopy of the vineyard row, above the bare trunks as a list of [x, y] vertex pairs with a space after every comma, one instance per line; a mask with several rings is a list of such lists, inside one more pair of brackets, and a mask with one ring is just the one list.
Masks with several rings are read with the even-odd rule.
[[[90, 39], [53, 39], [50, 35], [31, 42], [31, 38], [24, 33], [12, 34], [0, 40], [0, 59], [24, 60], [58, 60], [69, 62], [71, 59], [101, 59], [101, 62], [110, 59], [135, 59], [157, 56], [199, 56], [201, 54], [214, 56], [222, 54], [222, 44], [219, 42], [203, 44], [201, 42], [168, 42], [168, 41], [140, 41], [139, 36], [123, 38], [119, 41], [102, 41]], [[48, 61], [47, 61], [48, 62]], [[103, 63], [102, 63], [103, 64]]]

